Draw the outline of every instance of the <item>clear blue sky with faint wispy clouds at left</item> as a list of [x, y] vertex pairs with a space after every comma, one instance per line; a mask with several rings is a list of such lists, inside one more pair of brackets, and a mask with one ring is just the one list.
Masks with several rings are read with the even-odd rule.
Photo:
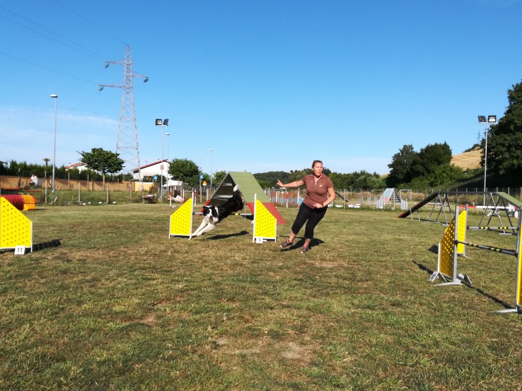
[[[522, 0], [4, 0], [0, 160], [116, 148], [129, 45], [141, 164], [388, 172], [404, 144], [478, 142], [522, 79]], [[212, 149], [212, 152], [209, 151]]]

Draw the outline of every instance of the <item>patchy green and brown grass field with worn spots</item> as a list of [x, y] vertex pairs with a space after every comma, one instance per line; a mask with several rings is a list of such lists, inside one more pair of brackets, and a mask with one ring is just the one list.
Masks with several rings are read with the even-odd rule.
[[436, 287], [444, 227], [399, 211], [330, 209], [306, 254], [252, 243], [238, 216], [169, 239], [172, 211], [27, 212], [35, 251], [0, 254], [0, 389], [522, 389], [522, 317], [494, 312], [514, 304], [513, 256], [468, 248], [473, 285]]

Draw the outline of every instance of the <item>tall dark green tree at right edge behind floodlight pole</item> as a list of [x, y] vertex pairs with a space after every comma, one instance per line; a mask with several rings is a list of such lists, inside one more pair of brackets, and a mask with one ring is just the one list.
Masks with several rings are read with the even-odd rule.
[[[522, 83], [507, 91], [504, 117], [491, 127], [488, 136], [488, 173], [504, 184], [519, 186], [522, 169]], [[482, 140], [482, 148], [485, 141]], [[484, 166], [484, 156], [481, 161]]]

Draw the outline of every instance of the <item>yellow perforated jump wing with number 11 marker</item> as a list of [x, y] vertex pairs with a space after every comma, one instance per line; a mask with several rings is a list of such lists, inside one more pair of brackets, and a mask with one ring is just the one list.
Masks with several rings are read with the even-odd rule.
[[15, 254], [32, 252], [32, 222], [6, 198], [0, 198], [0, 250], [15, 249]]

